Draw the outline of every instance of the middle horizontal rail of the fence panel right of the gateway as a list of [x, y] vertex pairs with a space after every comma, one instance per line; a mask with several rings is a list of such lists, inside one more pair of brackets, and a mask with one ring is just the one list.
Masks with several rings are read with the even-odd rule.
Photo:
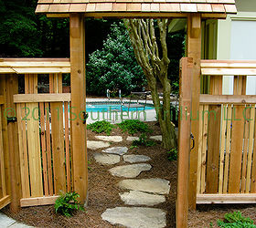
[[256, 95], [200, 95], [200, 104], [219, 105], [219, 104], [256, 104]]

